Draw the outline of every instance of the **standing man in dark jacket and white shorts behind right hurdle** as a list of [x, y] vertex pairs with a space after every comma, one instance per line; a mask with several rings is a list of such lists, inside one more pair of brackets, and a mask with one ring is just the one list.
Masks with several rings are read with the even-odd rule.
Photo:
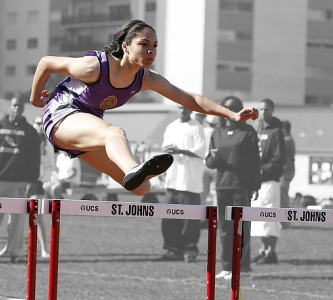
[[[258, 127], [259, 149], [261, 155], [261, 188], [256, 207], [280, 207], [280, 177], [285, 162], [285, 145], [282, 122], [273, 116], [274, 102], [264, 99], [260, 102], [261, 118]], [[276, 264], [278, 257], [276, 245], [281, 234], [279, 222], [252, 222], [251, 235], [261, 238], [259, 255], [252, 262], [257, 264]]]

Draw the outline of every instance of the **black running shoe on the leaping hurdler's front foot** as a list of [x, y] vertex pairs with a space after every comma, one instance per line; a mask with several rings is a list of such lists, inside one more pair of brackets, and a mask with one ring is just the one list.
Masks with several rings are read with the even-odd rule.
[[132, 191], [143, 182], [164, 173], [173, 163], [173, 156], [160, 154], [132, 168], [124, 177], [124, 188]]

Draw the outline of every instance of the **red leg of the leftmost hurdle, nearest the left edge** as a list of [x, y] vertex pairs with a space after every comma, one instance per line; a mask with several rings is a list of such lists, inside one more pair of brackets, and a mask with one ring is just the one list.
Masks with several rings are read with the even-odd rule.
[[29, 229], [27, 249], [27, 285], [26, 299], [36, 299], [36, 264], [37, 264], [37, 214], [38, 200], [28, 201]]

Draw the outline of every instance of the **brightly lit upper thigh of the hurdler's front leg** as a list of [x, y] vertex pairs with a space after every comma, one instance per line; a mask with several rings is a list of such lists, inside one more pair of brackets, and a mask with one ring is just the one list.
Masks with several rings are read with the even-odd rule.
[[73, 113], [55, 126], [52, 137], [60, 149], [101, 150], [110, 131], [119, 130], [101, 118], [87, 113]]

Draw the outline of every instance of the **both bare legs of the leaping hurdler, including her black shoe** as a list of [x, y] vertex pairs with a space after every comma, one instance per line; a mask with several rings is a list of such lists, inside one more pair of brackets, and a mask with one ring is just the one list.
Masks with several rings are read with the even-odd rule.
[[139, 162], [134, 159], [124, 130], [86, 113], [67, 116], [53, 131], [53, 140], [61, 149], [92, 152], [80, 158], [137, 195], [147, 193], [150, 184], [145, 181], [166, 171], [173, 161], [171, 155], [164, 154], [135, 168]]

